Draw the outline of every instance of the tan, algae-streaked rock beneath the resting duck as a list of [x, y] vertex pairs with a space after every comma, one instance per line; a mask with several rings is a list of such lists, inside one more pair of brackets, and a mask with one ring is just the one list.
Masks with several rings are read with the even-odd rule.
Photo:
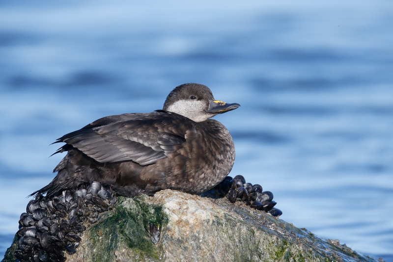
[[[14, 261], [16, 242], [17, 237], [4, 262]], [[103, 213], [83, 233], [77, 252], [66, 257], [67, 262], [376, 262], [244, 203], [169, 189], [153, 197], [119, 197], [117, 207]]]

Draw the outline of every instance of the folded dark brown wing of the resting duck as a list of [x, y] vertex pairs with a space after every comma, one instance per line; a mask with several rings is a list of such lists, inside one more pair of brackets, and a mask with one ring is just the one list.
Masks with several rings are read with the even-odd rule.
[[[176, 130], [170, 129], [173, 122], [179, 124], [175, 125]], [[188, 118], [163, 111], [109, 116], [57, 139], [56, 142], [67, 143], [57, 152], [72, 146], [101, 163], [134, 161], [148, 165], [167, 157], [174, 145], [185, 142], [192, 123]]]

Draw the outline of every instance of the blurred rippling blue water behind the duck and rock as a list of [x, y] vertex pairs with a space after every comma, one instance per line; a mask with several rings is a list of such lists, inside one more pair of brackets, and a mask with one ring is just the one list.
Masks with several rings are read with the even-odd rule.
[[0, 257], [61, 135], [182, 83], [281, 218], [393, 262], [393, 2], [0, 1]]

